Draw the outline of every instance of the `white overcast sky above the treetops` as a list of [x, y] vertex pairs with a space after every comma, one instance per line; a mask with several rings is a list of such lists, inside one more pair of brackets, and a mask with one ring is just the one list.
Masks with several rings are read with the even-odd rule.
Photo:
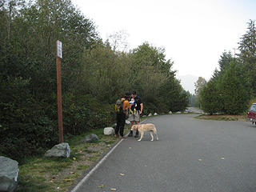
[[[129, 34], [134, 49], [143, 42], [164, 47], [178, 75], [207, 80], [224, 50], [234, 54], [246, 22], [256, 19], [256, 0], [72, 0], [103, 40]], [[238, 50], [236, 50], [238, 53]]]

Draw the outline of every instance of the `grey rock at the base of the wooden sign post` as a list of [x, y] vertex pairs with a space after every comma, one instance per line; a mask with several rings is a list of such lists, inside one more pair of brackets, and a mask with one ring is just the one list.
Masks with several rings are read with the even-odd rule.
[[71, 153], [71, 150], [70, 150], [69, 144], [66, 142], [62, 142], [58, 145], [55, 145], [50, 150], [47, 150], [45, 156], [48, 158], [50, 157], [69, 158], [70, 153]]

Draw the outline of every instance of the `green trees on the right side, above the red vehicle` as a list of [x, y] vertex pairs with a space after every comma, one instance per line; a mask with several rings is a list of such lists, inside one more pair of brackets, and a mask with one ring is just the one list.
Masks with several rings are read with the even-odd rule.
[[256, 102], [255, 21], [248, 22], [236, 53], [224, 51], [218, 64], [208, 82], [198, 78], [195, 83], [196, 106], [207, 114], [244, 114]]

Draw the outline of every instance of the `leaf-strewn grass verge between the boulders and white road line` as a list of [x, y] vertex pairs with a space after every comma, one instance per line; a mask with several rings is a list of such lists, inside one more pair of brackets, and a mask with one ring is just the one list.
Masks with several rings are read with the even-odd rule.
[[[130, 126], [126, 125], [127, 133]], [[81, 142], [88, 134], [97, 134], [97, 142]], [[119, 138], [103, 134], [103, 129], [91, 130], [86, 134], [66, 138], [71, 148], [70, 158], [33, 157], [25, 159], [19, 166], [16, 192], [64, 192], [74, 184], [75, 179], [98, 161], [102, 153], [118, 142]]]

